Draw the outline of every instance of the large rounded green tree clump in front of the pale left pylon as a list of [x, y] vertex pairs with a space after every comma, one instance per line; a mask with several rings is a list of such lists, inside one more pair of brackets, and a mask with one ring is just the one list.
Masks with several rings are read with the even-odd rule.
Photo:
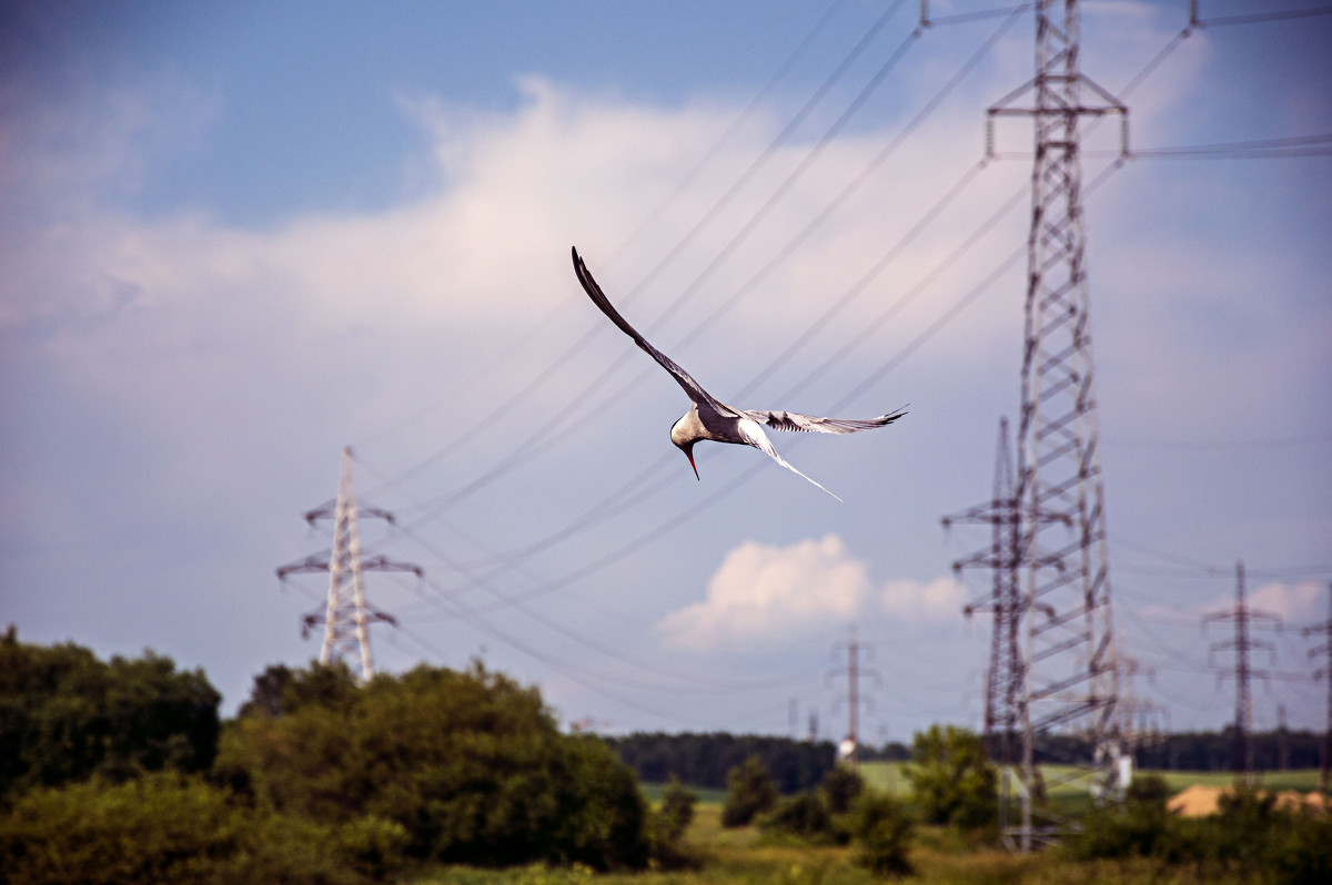
[[421, 665], [357, 688], [345, 668], [297, 671], [280, 715], [222, 737], [218, 776], [326, 824], [397, 821], [408, 852], [474, 865], [647, 861], [634, 773], [597, 739], [561, 735], [535, 688]]

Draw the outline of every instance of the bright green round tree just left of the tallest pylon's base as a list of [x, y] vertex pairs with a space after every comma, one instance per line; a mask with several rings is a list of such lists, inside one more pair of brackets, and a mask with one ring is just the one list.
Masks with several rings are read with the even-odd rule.
[[918, 732], [907, 767], [912, 798], [931, 824], [976, 829], [994, 821], [998, 789], [980, 737], [964, 728]]

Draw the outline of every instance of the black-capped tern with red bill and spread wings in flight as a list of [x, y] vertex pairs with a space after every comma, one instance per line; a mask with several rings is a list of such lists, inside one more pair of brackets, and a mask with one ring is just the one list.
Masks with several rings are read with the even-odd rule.
[[[805, 476], [805, 474], [789, 464], [785, 458], [777, 454], [777, 448], [773, 447], [767, 434], [763, 433], [765, 425], [773, 430], [794, 430], [821, 434], [854, 434], [872, 427], [884, 427], [907, 414], [906, 409], [899, 409], [898, 411], [887, 415], [858, 421], [854, 418], [815, 418], [813, 415], [802, 415], [794, 411], [763, 411], [727, 406], [717, 397], [713, 397], [710, 393], [703, 390], [703, 387], [694, 381], [693, 375], [681, 369], [670, 357], [653, 347], [646, 338], [638, 334], [637, 329], [630, 326], [625, 318], [619, 315], [619, 311], [615, 310], [615, 307], [606, 298], [606, 293], [603, 293], [601, 286], [597, 285], [597, 281], [593, 279], [591, 273], [587, 270], [587, 265], [585, 265], [583, 260], [578, 256], [577, 246], [573, 249], [573, 258], [574, 273], [578, 275], [578, 282], [582, 283], [582, 287], [586, 290], [587, 297], [591, 298], [591, 302], [597, 305], [613, 323], [619, 326], [622, 333], [633, 338], [634, 343], [642, 347], [649, 357], [661, 363], [662, 369], [671, 374], [671, 378], [674, 378], [675, 382], [685, 389], [685, 394], [693, 402], [689, 411], [686, 411], [681, 419], [671, 426], [670, 441], [677, 448], [685, 452], [686, 458], [689, 458], [689, 466], [694, 468], [695, 479], [701, 480], [702, 476], [698, 475], [698, 464], [694, 463], [694, 444], [705, 439], [754, 446], [791, 472]], [[805, 479], [809, 479], [819, 488], [823, 488], [823, 486], [814, 479], [810, 479], [809, 476], [805, 476]], [[838, 500], [842, 500], [827, 488], [823, 488], [823, 491], [827, 491]]]

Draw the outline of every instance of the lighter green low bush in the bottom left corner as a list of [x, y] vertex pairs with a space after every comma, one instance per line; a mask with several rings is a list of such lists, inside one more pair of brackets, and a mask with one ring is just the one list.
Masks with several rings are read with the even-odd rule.
[[13, 885], [364, 881], [349, 860], [325, 828], [237, 808], [170, 773], [37, 789], [0, 818], [0, 868]]

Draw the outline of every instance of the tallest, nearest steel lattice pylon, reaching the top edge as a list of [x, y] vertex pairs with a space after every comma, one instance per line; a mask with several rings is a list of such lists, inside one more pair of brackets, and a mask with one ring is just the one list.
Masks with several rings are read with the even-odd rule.
[[[1091, 759], [1066, 761], [1086, 764], [1098, 801], [1123, 787], [1079, 122], [1084, 116], [1118, 114], [1127, 149], [1128, 109], [1079, 72], [1076, 0], [1038, 0], [1035, 19], [1036, 75], [991, 106], [987, 117], [991, 150], [995, 117], [1020, 114], [1035, 121], [1018, 430], [1026, 661], [1019, 701], [1023, 850], [1062, 829], [1058, 824], [1038, 829], [1032, 822], [1038, 737], [1067, 729], [1083, 739]], [[1084, 92], [1092, 102], [1083, 101]], [[1026, 94], [1034, 97], [1031, 106], [1016, 106]]]

